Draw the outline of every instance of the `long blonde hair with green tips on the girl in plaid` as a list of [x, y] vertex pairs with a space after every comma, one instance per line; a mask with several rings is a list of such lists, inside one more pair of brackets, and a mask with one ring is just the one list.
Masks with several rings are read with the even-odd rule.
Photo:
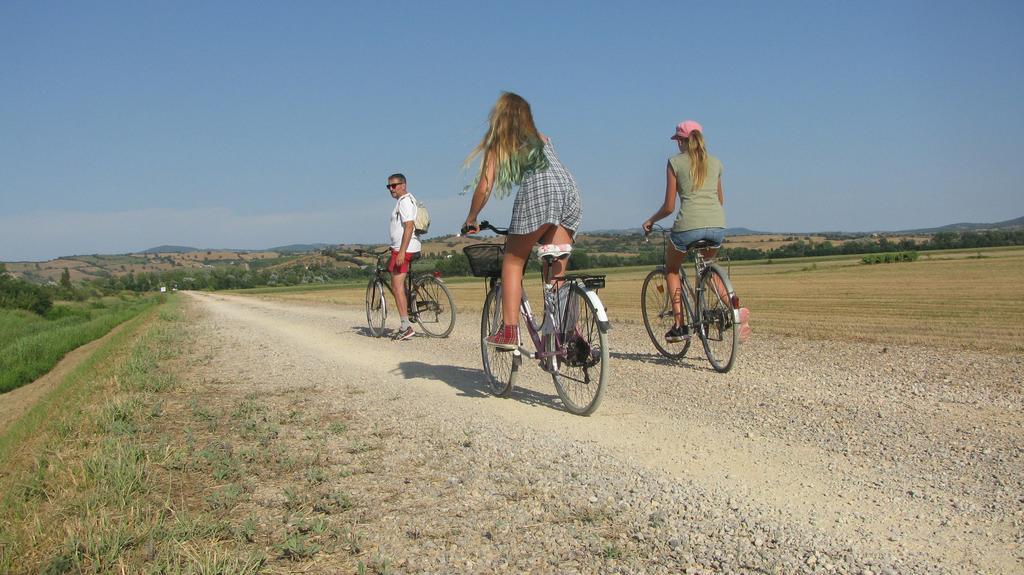
[[530, 174], [548, 168], [544, 141], [534, 124], [529, 103], [522, 96], [502, 92], [487, 116], [487, 131], [473, 148], [463, 167], [480, 157], [476, 181], [483, 175], [487, 159], [495, 162], [495, 188], [502, 197]]

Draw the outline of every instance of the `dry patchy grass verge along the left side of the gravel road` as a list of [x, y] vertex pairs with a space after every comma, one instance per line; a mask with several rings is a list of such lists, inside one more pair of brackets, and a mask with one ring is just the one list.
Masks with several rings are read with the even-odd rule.
[[[324, 430], [298, 396], [285, 406], [183, 382], [197, 359], [178, 305], [128, 321], [0, 432], [0, 573], [233, 575], [321, 561], [353, 573], [376, 547], [346, 537], [367, 511], [353, 515], [360, 498], [339, 465], [360, 457], [325, 451], [353, 422]], [[256, 497], [267, 490], [280, 501]], [[369, 565], [392, 569], [379, 552]]]

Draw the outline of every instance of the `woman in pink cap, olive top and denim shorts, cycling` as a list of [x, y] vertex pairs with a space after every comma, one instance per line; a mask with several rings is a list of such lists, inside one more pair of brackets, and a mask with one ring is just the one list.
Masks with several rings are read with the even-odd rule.
[[683, 321], [680, 301], [681, 282], [679, 266], [686, 256], [686, 247], [698, 239], [707, 239], [716, 248], [707, 250], [706, 258], [715, 257], [717, 248], [725, 239], [725, 211], [722, 205], [722, 163], [708, 153], [700, 124], [687, 120], [676, 126], [672, 136], [679, 144], [679, 153], [669, 159], [666, 170], [665, 202], [643, 224], [644, 233], [650, 233], [657, 220], [671, 215], [679, 196], [679, 215], [672, 226], [672, 246], [666, 254], [669, 290], [672, 291], [672, 308], [676, 323], [665, 335], [668, 342], [681, 342], [689, 337]]

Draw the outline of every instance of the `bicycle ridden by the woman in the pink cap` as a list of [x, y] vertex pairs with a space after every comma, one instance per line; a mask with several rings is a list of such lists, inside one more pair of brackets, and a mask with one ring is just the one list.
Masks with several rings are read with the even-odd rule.
[[[654, 227], [662, 233], [665, 249], [668, 250], [670, 230], [656, 224]], [[687, 257], [693, 260], [695, 288], [686, 275], [685, 263], [679, 266], [682, 286], [680, 306], [688, 334], [682, 341], [670, 342], [666, 338], [666, 333], [676, 322], [666, 266], [657, 266], [647, 274], [640, 301], [644, 327], [662, 355], [672, 358], [685, 356], [690, 348], [690, 336], [695, 334], [703, 344], [712, 367], [724, 373], [735, 364], [739, 350], [739, 298], [732, 289], [729, 274], [714, 261], [705, 259], [705, 251], [714, 247], [705, 239], [686, 247]]]

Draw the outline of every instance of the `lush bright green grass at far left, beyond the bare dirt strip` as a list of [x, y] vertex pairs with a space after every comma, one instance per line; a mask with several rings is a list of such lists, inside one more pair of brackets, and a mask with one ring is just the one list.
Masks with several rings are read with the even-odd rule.
[[152, 308], [159, 297], [54, 307], [46, 319], [0, 310], [0, 393], [32, 383], [73, 349]]

